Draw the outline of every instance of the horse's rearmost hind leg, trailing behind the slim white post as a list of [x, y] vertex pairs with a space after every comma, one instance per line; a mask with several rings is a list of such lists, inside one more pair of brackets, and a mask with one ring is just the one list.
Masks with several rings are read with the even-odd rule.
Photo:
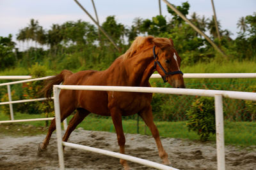
[[[67, 105], [61, 104], [60, 106], [67, 106]], [[73, 106], [68, 106], [68, 108], [61, 107], [61, 122], [63, 122], [63, 120], [65, 120], [65, 118], [67, 118], [74, 110], [75, 110], [75, 108]], [[55, 129], [56, 129], [56, 124], [55, 124], [55, 118], [54, 118], [51, 122], [51, 125], [49, 126], [47, 135], [46, 135], [43, 143], [41, 143], [38, 148], [39, 152], [46, 150], [46, 147], [49, 144], [49, 141], [51, 139], [52, 132], [55, 131]]]

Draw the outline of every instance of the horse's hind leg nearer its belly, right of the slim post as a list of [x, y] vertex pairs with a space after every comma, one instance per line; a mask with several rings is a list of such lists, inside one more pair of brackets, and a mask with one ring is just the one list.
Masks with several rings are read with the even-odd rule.
[[83, 108], [77, 108], [77, 113], [74, 115], [74, 117], [72, 117], [72, 119], [68, 123], [67, 131], [63, 136], [63, 141], [68, 141], [71, 132], [74, 131], [77, 125], [80, 124], [84, 120], [84, 118], [87, 117], [89, 114], [89, 111], [84, 110]]

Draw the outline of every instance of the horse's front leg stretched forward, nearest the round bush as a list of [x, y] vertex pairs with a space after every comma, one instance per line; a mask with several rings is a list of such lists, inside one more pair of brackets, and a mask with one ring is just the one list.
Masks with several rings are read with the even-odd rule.
[[152, 136], [156, 140], [159, 157], [163, 160], [163, 164], [170, 165], [168, 160], [168, 154], [164, 151], [163, 145], [160, 140], [159, 132], [156, 125], [153, 122], [152, 108], [148, 106], [145, 110], [139, 113], [140, 117], [144, 120], [145, 124], [149, 127]]

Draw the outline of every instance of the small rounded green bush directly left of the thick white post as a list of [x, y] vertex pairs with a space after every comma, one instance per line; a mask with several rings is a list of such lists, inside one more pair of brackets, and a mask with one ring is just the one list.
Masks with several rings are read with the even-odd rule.
[[215, 134], [215, 109], [212, 97], [200, 97], [192, 103], [186, 113], [189, 131], [195, 131], [201, 141], [207, 141], [210, 134]]

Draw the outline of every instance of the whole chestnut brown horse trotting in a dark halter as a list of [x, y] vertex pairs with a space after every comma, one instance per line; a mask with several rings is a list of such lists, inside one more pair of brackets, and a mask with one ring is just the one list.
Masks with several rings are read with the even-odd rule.
[[[172, 87], [184, 88], [184, 80], [180, 71], [180, 57], [173, 47], [172, 39], [154, 38], [153, 36], [138, 37], [123, 55], [118, 57], [105, 71], [68, 70], [46, 80], [44, 92], [51, 97], [52, 85], [108, 85], [150, 87], [148, 82], [154, 71], [157, 71]], [[152, 132], [156, 140], [159, 157], [164, 164], [169, 164], [168, 155], [164, 151], [159, 138], [159, 132], [153, 122], [151, 108], [152, 94], [136, 92], [105, 92], [88, 90], [61, 90], [60, 112], [61, 122], [74, 110], [77, 110], [70, 120], [63, 141], [67, 141], [71, 132], [90, 113], [111, 116], [116, 129], [120, 153], [125, 153], [125, 136], [122, 128], [122, 116], [138, 113]], [[45, 150], [49, 144], [52, 132], [56, 129], [52, 120], [46, 138], [39, 150]], [[129, 169], [126, 160], [120, 159], [124, 169]]]

